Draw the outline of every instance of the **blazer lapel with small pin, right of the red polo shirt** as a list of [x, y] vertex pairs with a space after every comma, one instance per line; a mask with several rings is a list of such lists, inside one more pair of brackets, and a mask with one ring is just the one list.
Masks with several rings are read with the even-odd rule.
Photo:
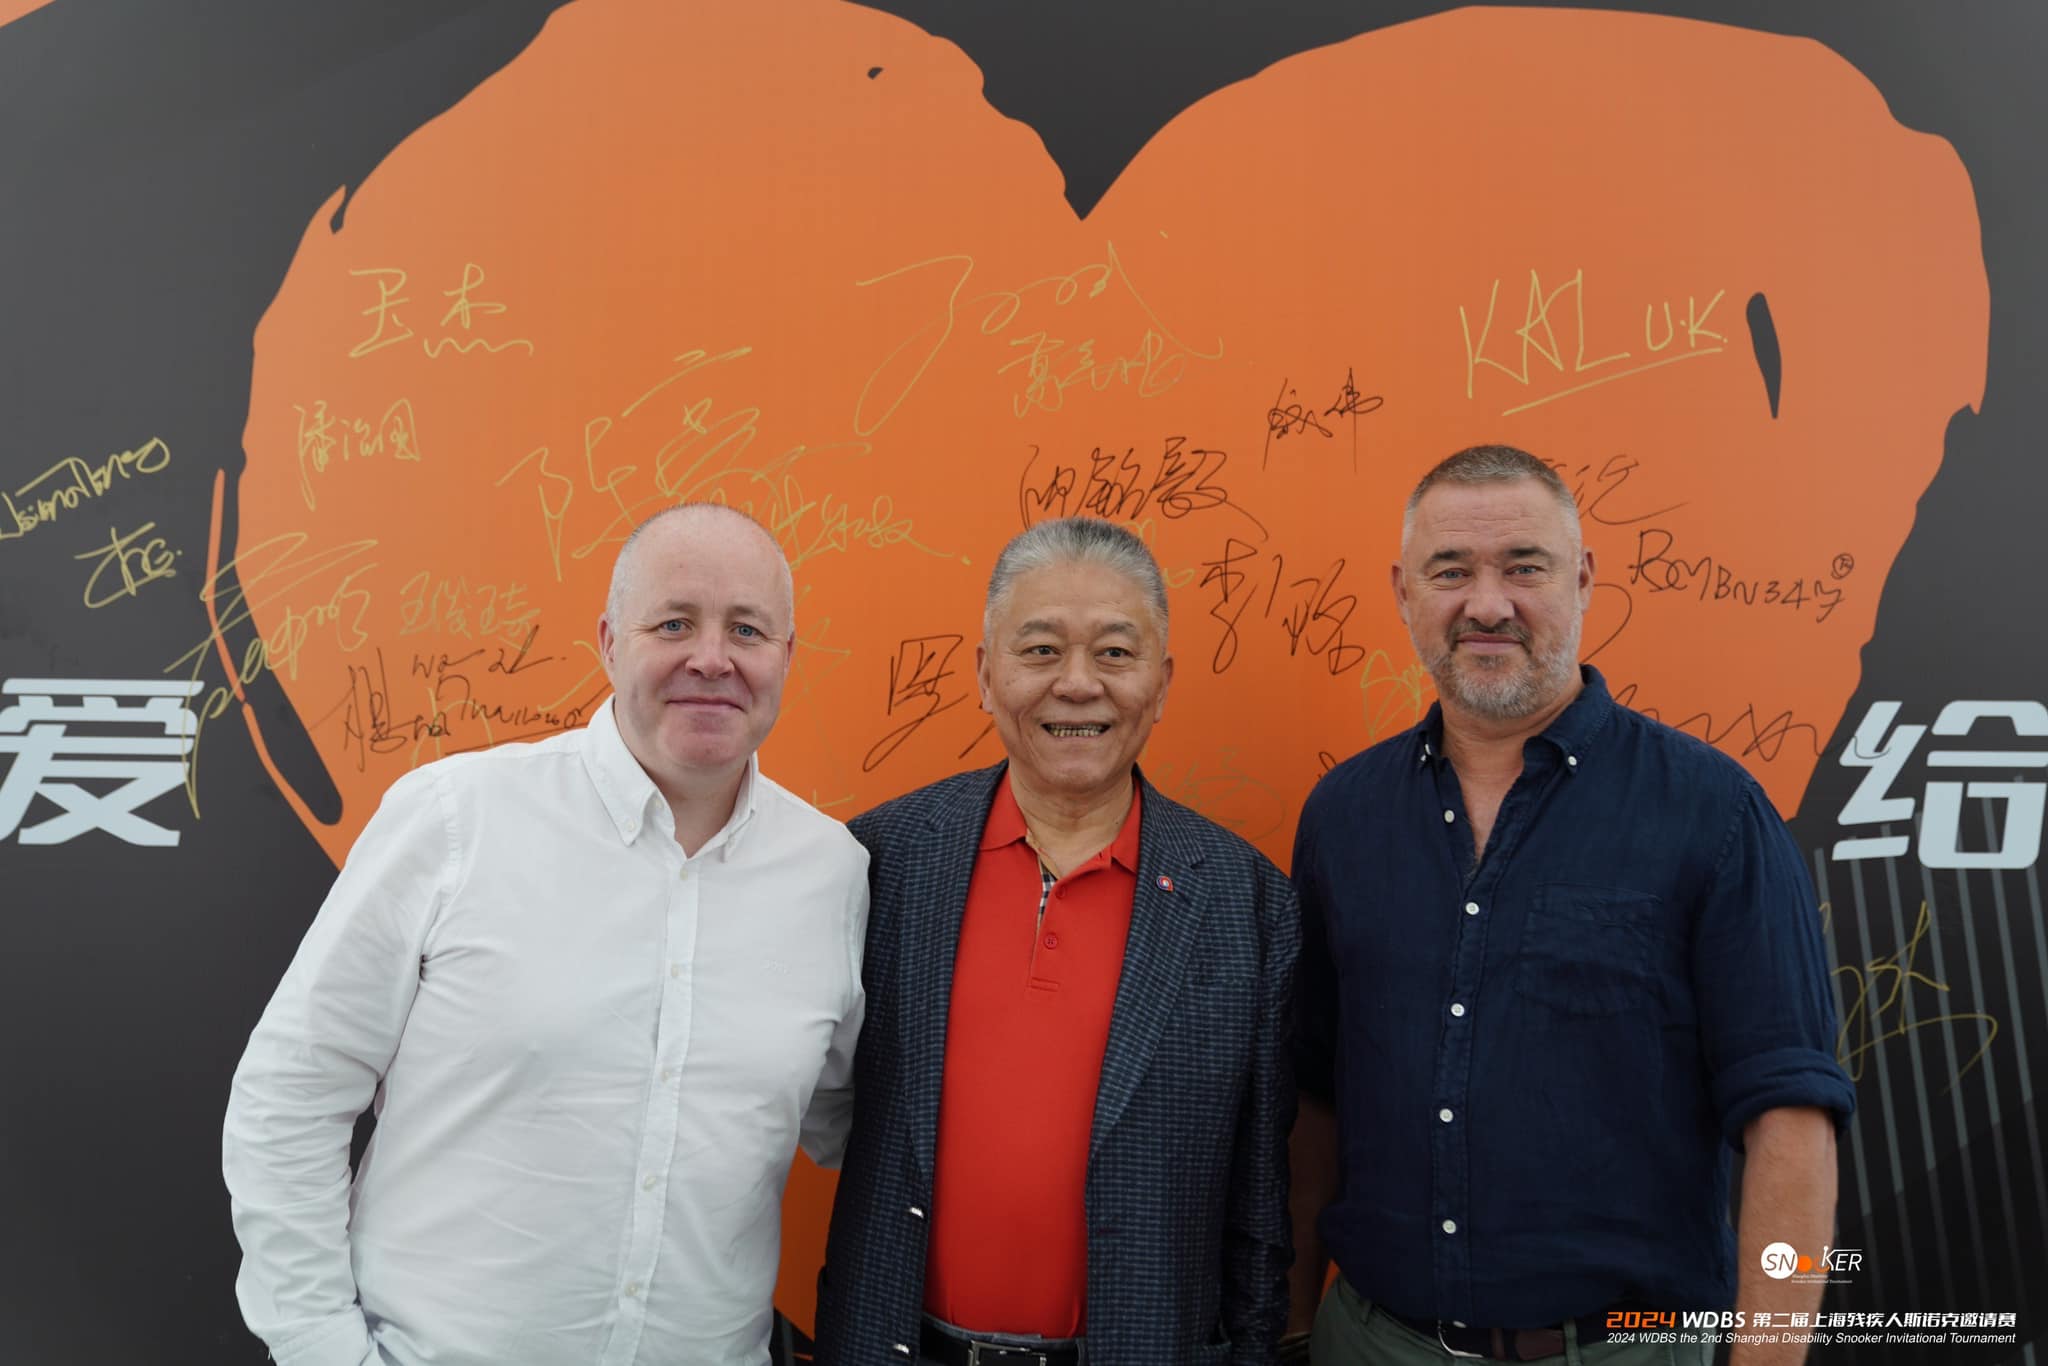
[[1124, 973], [1116, 983], [1110, 1040], [1102, 1055], [1090, 1161], [1145, 1079], [1206, 911], [1196, 872], [1202, 848], [1190, 838], [1190, 815], [1161, 797], [1143, 774], [1139, 784], [1145, 803], [1139, 823], [1139, 889], [1130, 899]]

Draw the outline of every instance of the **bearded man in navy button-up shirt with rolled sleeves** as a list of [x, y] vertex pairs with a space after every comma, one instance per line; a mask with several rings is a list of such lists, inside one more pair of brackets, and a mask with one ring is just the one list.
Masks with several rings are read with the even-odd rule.
[[1855, 1106], [1800, 854], [1739, 764], [1579, 664], [1593, 553], [1536, 457], [1430, 471], [1393, 588], [1438, 705], [1329, 772], [1294, 844], [1290, 1327], [1317, 1366], [1710, 1362], [1606, 1323], [1819, 1303], [1763, 1266], [1833, 1241]]

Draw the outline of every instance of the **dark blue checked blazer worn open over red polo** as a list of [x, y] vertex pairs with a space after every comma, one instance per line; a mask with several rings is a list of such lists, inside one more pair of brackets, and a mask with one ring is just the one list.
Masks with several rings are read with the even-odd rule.
[[[952, 958], [1001, 774], [852, 821], [870, 856], [868, 1016], [819, 1276], [821, 1366], [915, 1360]], [[1264, 1366], [1292, 1257], [1294, 891], [1249, 844], [1139, 784], [1137, 895], [1087, 1149], [1087, 1360]]]

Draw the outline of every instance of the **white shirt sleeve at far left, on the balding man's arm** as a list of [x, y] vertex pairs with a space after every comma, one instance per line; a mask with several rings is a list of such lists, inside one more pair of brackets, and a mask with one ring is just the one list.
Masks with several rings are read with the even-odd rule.
[[221, 1135], [250, 1331], [283, 1366], [375, 1362], [348, 1257], [348, 1141], [391, 1065], [455, 868], [440, 784], [395, 782], [236, 1069]]

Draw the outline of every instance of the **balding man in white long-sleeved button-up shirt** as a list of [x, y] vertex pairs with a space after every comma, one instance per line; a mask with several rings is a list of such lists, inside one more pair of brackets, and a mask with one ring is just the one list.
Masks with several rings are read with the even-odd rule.
[[860, 846], [754, 758], [793, 618], [766, 530], [672, 508], [618, 553], [590, 725], [385, 793], [227, 1106], [276, 1362], [768, 1362], [791, 1157], [846, 1139], [868, 909]]

